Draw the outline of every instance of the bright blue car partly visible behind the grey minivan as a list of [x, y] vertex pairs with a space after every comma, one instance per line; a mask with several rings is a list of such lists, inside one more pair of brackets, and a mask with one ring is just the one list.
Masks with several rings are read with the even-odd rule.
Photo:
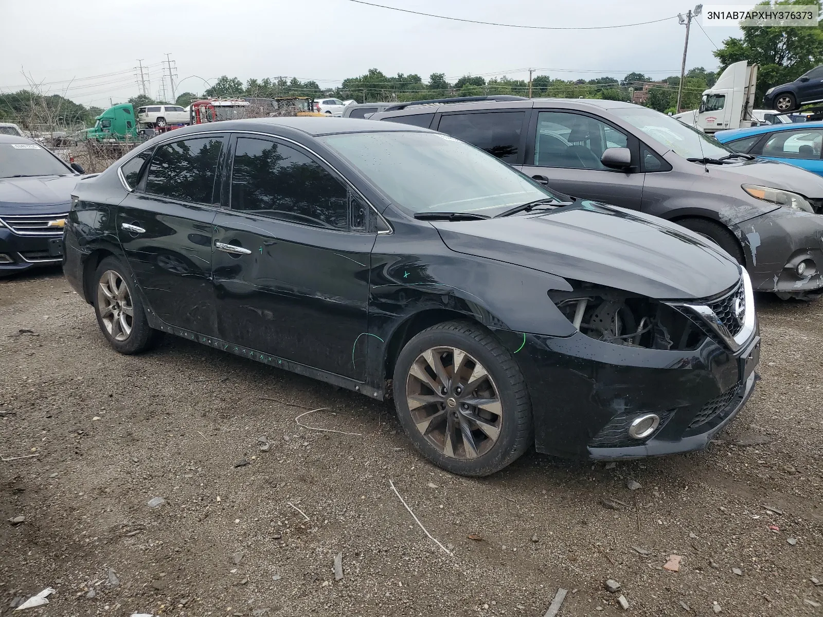
[[737, 128], [716, 132], [714, 137], [738, 152], [779, 160], [823, 176], [823, 122]]

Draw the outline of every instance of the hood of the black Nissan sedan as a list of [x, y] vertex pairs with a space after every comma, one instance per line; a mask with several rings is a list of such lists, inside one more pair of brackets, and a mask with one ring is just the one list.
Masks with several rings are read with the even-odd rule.
[[539, 215], [432, 225], [457, 253], [649, 298], [706, 298], [740, 279], [737, 262], [697, 234], [597, 202]]

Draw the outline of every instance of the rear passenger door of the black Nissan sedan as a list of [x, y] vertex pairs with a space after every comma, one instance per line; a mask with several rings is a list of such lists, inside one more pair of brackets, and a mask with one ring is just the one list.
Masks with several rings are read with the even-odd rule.
[[[146, 153], [151, 160], [132, 178], [117, 219], [120, 244], [151, 310], [169, 325], [211, 336], [212, 221], [227, 141], [198, 134]], [[123, 166], [127, 183], [135, 167], [137, 161]]]

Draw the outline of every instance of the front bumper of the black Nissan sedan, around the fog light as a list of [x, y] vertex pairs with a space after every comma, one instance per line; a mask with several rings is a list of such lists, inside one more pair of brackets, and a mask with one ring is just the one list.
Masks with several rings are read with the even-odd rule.
[[[527, 335], [514, 358], [528, 383], [538, 452], [625, 459], [705, 448], [751, 396], [760, 336], [732, 354], [710, 338], [697, 350], [670, 351], [581, 333]], [[645, 413], [659, 415], [660, 426], [629, 438], [625, 427]]]

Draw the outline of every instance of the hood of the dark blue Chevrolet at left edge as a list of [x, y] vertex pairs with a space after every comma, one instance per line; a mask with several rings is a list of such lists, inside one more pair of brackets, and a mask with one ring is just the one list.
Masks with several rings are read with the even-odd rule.
[[[82, 176], [35, 176], [34, 178], [0, 179], [0, 212], [4, 214], [67, 211], [72, 190]], [[32, 210], [35, 208], [35, 210]]]

